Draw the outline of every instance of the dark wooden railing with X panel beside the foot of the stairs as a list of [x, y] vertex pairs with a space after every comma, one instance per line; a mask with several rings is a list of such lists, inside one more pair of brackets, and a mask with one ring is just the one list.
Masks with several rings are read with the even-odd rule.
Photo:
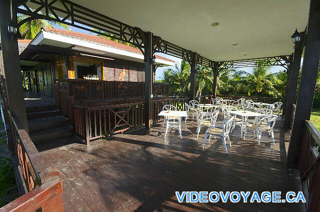
[[143, 101], [101, 106], [73, 106], [74, 128], [92, 139], [144, 125]]

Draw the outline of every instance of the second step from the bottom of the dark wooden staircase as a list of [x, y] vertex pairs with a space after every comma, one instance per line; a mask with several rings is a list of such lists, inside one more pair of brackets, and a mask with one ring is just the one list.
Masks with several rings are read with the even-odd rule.
[[62, 115], [28, 120], [29, 133], [68, 125], [70, 125], [70, 123], [68, 122], [67, 117]]

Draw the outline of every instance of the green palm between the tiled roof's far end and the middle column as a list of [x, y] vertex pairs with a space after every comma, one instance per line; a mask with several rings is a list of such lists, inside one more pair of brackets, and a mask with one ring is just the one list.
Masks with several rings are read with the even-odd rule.
[[161, 82], [169, 83], [170, 95], [186, 96], [190, 90], [190, 64], [181, 60], [180, 66], [175, 63], [174, 69], [164, 70]]

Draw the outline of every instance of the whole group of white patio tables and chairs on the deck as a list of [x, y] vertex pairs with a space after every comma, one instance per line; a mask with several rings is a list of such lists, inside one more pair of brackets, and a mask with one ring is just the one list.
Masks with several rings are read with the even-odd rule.
[[[205, 127], [202, 148], [206, 140], [210, 142], [210, 138], [221, 138], [225, 153], [227, 153], [226, 141], [231, 146], [229, 133], [235, 126], [240, 127], [240, 137], [245, 139], [247, 130], [251, 130], [257, 138], [260, 145], [261, 134], [267, 132], [274, 144], [273, 126], [276, 119], [280, 119], [280, 111], [282, 102], [263, 103], [254, 102], [251, 99], [230, 100], [223, 98], [212, 98], [211, 104], [201, 104], [196, 100], [190, 100], [189, 103], [184, 102], [185, 111], [177, 111], [174, 105], [164, 105], [162, 111], [158, 114], [163, 116], [162, 126], [165, 125], [165, 134], [169, 128], [176, 128], [181, 136], [181, 120], [184, 117], [184, 123], [188, 117], [197, 121], [197, 137], [200, 129]], [[223, 121], [216, 121], [219, 112], [223, 113]]]

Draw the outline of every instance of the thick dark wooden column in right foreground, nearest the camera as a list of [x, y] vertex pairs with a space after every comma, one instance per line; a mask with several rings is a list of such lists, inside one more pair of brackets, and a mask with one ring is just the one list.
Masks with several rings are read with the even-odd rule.
[[[320, 0], [311, 0], [303, 65], [286, 165], [296, 168], [305, 121], [309, 120], [320, 59]], [[293, 71], [293, 69], [292, 69]]]

